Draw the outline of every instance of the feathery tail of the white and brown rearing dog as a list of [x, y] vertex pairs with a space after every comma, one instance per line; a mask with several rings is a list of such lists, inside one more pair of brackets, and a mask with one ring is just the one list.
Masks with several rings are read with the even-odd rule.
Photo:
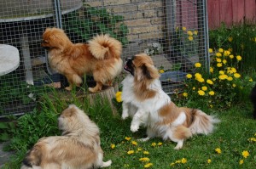
[[213, 132], [214, 124], [219, 120], [215, 116], [207, 115], [201, 110], [192, 110], [193, 122], [189, 129], [192, 134], [209, 134]]

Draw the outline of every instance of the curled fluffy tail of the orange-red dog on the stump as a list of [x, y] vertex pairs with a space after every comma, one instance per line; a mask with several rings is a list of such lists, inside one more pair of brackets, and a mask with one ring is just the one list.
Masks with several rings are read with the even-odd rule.
[[88, 42], [90, 53], [96, 59], [120, 58], [122, 53], [122, 43], [113, 37], [97, 35]]

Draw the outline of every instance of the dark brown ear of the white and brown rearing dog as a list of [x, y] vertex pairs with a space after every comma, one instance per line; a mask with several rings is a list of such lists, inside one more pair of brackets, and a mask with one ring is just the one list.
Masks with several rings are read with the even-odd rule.
[[137, 80], [141, 81], [143, 79], [143, 77], [145, 77], [146, 79], [156, 79], [158, 78], [160, 75], [158, 73], [158, 70], [154, 67], [154, 65], [149, 65], [149, 64], [143, 64], [141, 66], [141, 69], [138, 70], [137, 72]]

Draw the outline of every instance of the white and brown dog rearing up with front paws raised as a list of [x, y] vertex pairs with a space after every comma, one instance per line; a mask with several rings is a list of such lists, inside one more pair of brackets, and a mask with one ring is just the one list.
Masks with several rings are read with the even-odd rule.
[[148, 137], [142, 141], [171, 139], [177, 143], [175, 149], [181, 149], [185, 139], [193, 134], [209, 134], [219, 122], [201, 110], [177, 107], [160, 87], [158, 70], [148, 55], [137, 54], [125, 69], [131, 75], [122, 82], [122, 117], [132, 117], [131, 132], [137, 132], [140, 125], [147, 127]]

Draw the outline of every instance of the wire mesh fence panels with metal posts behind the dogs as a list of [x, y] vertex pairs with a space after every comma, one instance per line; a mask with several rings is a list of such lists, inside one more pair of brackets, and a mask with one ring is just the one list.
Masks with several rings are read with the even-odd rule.
[[[72, 42], [109, 34], [123, 45], [122, 59], [146, 53], [160, 70], [166, 93], [181, 87], [195, 62], [208, 68], [206, 0], [2, 0], [0, 44], [19, 50], [20, 65], [0, 76], [0, 116], [31, 111], [44, 86], [66, 85], [41, 47], [47, 27]], [[9, 55], [9, 57], [12, 57]], [[2, 62], [2, 60], [1, 60]], [[1, 69], [1, 68], [0, 68]], [[121, 81], [122, 75], [117, 81]]]

